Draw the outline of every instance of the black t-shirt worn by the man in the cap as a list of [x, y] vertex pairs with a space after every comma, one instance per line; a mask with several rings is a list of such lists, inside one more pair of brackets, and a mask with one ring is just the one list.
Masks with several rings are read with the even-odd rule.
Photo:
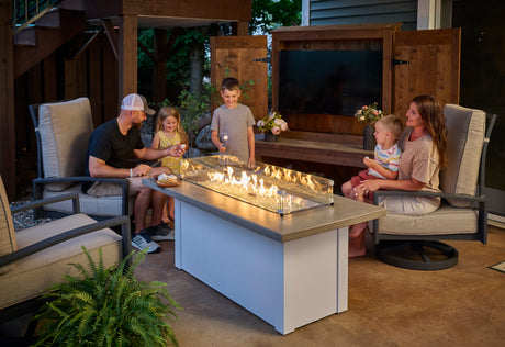
[[[88, 157], [102, 159], [106, 165], [125, 168], [133, 158], [134, 149], [144, 148], [141, 132], [131, 127], [126, 135], [121, 134], [117, 120], [113, 119], [97, 127], [89, 138]], [[86, 163], [86, 175], [89, 176], [89, 161]], [[82, 191], [87, 192], [93, 182], [82, 182]]]

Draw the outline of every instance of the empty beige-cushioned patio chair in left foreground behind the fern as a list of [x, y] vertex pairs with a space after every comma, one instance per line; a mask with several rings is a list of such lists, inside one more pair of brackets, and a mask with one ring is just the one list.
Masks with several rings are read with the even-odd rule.
[[[12, 214], [45, 203], [69, 200], [74, 213], [33, 227], [14, 231]], [[110, 227], [121, 226], [121, 235]], [[33, 312], [38, 298], [64, 275], [76, 276], [69, 264], [87, 264], [81, 247], [97, 259], [99, 248], [103, 264], [119, 264], [131, 251], [130, 217], [126, 215], [97, 222], [79, 213], [79, 195], [66, 194], [9, 208], [0, 177], [0, 323]]]

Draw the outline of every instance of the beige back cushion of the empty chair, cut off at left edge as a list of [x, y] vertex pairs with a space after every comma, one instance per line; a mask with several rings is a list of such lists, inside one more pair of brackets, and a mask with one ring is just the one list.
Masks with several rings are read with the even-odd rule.
[[[11, 209], [7, 198], [5, 187], [0, 176], [0, 257], [18, 250], [15, 242], [14, 223], [12, 223]], [[12, 264], [0, 268], [0, 276], [12, 270]]]

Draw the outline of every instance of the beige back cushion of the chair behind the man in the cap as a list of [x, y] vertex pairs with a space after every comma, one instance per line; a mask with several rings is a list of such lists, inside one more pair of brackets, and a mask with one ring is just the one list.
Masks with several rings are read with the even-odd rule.
[[[88, 142], [93, 131], [88, 98], [46, 103], [38, 108], [44, 177], [83, 176], [88, 160]], [[75, 182], [47, 184], [63, 191]]]

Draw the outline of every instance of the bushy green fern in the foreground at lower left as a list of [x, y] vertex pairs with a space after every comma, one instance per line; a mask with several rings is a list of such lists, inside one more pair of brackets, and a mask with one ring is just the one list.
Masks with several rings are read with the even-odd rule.
[[168, 322], [182, 307], [166, 283], [139, 282], [133, 275], [145, 251], [132, 266], [127, 261], [133, 253], [119, 266], [104, 268], [101, 249], [98, 264], [82, 249], [89, 270], [71, 264], [80, 276], [66, 276], [43, 295], [47, 301], [34, 317], [41, 320], [35, 346], [178, 346]]

